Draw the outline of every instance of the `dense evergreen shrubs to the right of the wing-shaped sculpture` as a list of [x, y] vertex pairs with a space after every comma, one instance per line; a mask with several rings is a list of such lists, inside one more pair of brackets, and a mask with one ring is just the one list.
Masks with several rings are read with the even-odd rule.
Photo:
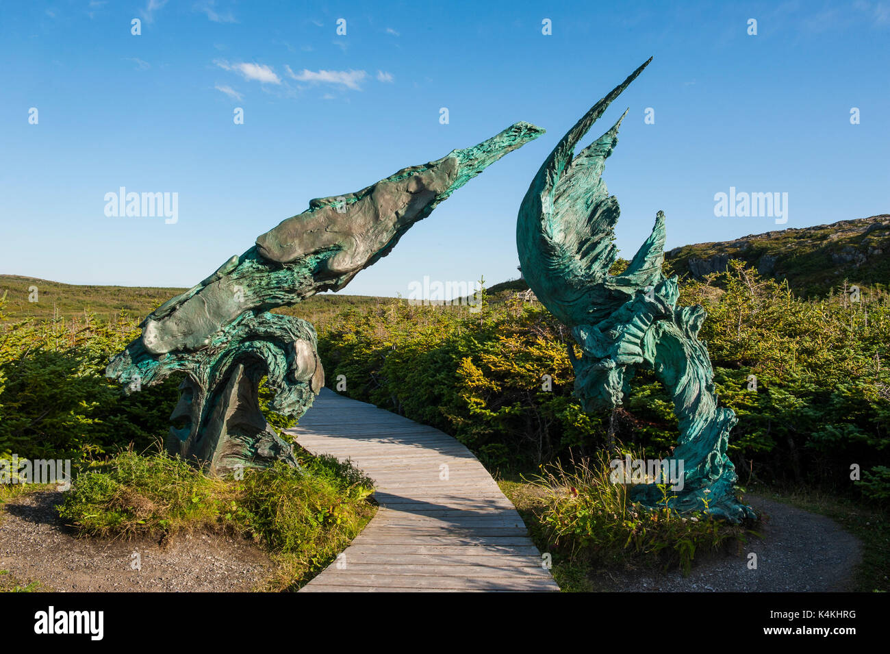
[[[767, 478], [850, 487], [850, 466], [870, 470], [890, 450], [890, 306], [866, 292], [802, 300], [740, 262], [719, 276], [725, 292], [685, 287], [708, 311], [701, 337], [717, 392], [739, 416], [730, 452]], [[748, 389], [756, 378], [756, 391]], [[868, 478], [869, 472], [865, 477]], [[867, 497], [890, 499], [890, 488]]]

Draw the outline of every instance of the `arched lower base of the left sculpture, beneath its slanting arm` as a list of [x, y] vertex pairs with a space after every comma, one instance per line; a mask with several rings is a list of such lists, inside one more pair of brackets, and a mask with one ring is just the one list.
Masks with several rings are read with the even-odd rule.
[[158, 355], [136, 339], [111, 360], [106, 375], [138, 392], [185, 373], [166, 448], [206, 472], [296, 465], [293, 447], [263, 416], [259, 386], [265, 377], [272, 411], [302, 416], [325, 383], [317, 343], [305, 320], [245, 313], [198, 351]]

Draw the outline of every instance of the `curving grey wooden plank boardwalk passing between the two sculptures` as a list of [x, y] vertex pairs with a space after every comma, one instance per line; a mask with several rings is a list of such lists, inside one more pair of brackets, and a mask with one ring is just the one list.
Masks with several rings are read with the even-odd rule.
[[293, 430], [376, 482], [374, 518], [301, 592], [558, 591], [514, 505], [439, 430], [323, 389]]

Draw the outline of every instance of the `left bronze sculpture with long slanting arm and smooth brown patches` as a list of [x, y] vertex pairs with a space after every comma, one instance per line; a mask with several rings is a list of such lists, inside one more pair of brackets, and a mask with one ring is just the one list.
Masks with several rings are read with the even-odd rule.
[[279, 460], [296, 464], [260, 410], [258, 386], [266, 376], [274, 392], [270, 408], [299, 417], [324, 385], [324, 371], [312, 325], [268, 311], [343, 288], [455, 190], [542, 133], [516, 123], [366, 189], [312, 200], [302, 214], [151, 313], [142, 335], [111, 359], [106, 374], [128, 392], [186, 374], [167, 438], [172, 454], [217, 473]]

